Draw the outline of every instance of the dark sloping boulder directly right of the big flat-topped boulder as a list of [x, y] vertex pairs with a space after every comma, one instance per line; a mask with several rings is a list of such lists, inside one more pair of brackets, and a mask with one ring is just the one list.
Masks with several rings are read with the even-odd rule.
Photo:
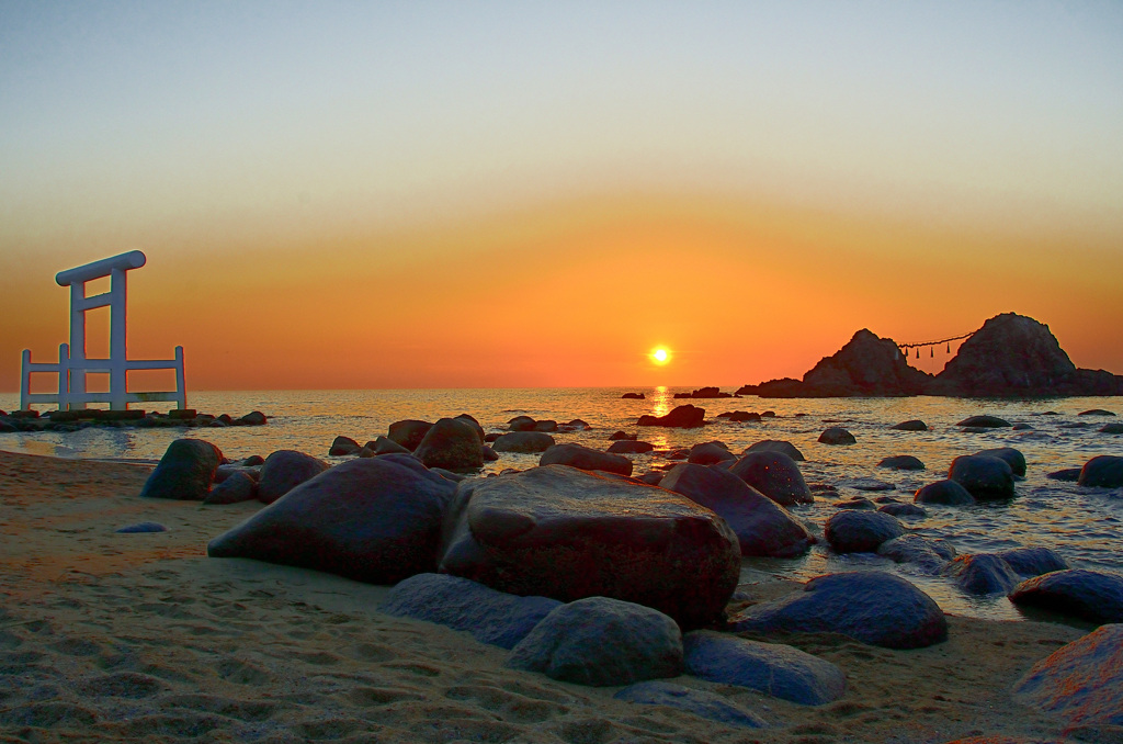
[[737, 535], [741, 555], [792, 557], [815, 542], [787, 509], [729, 471], [682, 463], [659, 486], [724, 519]]

